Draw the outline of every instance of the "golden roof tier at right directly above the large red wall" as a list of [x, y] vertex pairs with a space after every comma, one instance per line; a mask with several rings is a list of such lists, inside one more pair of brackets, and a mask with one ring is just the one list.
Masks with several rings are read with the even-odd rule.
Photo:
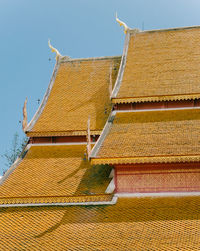
[[199, 109], [117, 112], [92, 150], [92, 163], [200, 161], [199, 135]]

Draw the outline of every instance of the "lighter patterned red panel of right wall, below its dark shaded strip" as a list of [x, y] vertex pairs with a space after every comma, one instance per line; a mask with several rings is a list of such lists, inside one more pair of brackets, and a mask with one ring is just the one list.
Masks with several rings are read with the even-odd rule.
[[118, 193], [200, 191], [200, 170], [186, 173], [145, 173], [117, 176]]

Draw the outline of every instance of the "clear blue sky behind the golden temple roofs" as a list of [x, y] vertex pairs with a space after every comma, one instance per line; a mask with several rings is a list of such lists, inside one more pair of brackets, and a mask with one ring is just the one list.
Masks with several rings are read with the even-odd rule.
[[[116, 11], [131, 28], [200, 25], [200, 0], [0, 0], [0, 154], [15, 132], [23, 137], [25, 98], [30, 121], [49, 84], [55, 55], [48, 38], [72, 58], [121, 55]], [[4, 168], [0, 158], [0, 175]]]

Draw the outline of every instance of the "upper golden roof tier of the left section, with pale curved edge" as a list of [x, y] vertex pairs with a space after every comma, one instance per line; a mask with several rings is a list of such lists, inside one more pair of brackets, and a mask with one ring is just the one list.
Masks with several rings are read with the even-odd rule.
[[120, 57], [59, 60], [44, 100], [27, 127], [28, 136], [100, 134], [111, 110]]

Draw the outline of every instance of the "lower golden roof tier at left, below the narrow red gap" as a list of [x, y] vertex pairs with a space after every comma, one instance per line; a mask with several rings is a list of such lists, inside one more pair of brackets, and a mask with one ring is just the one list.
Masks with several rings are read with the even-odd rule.
[[105, 193], [111, 168], [92, 167], [85, 150], [86, 145], [31, 146], [0, 186], [0, 205], [83, 202], [90, 195], [101, 200], [95, 195]]

